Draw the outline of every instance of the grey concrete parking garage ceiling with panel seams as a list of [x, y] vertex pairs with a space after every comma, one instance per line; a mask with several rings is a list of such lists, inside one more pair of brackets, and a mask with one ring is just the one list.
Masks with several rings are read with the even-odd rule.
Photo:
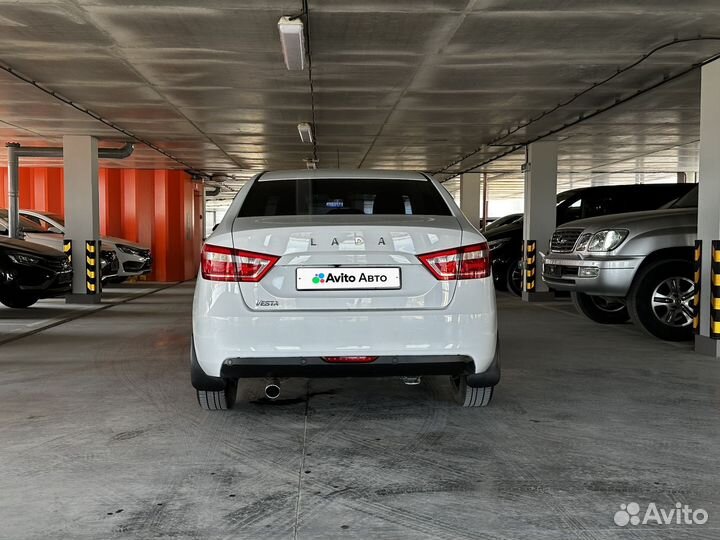
[[[113, 165], [238, 180], [302, 166], [308, 71], [285, 69], [276, 28], [300, 10], [299, 0], [0, 0], [0, 62], [42, 88], [0, 72], [0, 134], [26, 145], [128, 139], [88, 109], [175, 158], [140, 145]], [[320, 166], [443, 178], [720, 51], [720, 40], [668, 47], [502, 137], [659, 44], [720, 35], [717, 0], [309, 0], [309, 21]], [[695, 71], [558, 133], [561, 172], [694, 170], [698, 117]], [[523, 159], [486, 169], [517, 171]]]

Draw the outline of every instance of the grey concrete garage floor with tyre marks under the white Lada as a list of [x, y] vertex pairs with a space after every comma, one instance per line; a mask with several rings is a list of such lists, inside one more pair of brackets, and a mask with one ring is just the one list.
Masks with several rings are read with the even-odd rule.
[[[490, 408], [443, 379], [330, 379], [275, 403], [248, 381], [208, 413], [191, 299], [0, 345], [0, 538], [720, 538], [720, 364], [687, 345], [502, 296]], [[615, 525], [630, 502], [709, 521]]]

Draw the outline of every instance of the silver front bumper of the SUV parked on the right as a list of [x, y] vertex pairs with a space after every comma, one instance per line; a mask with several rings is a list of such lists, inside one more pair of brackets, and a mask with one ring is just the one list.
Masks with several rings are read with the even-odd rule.
[[642, 257], [578, 259], [548, 256], [543, 281], [560, 291], [601, 296], [627, 296]]

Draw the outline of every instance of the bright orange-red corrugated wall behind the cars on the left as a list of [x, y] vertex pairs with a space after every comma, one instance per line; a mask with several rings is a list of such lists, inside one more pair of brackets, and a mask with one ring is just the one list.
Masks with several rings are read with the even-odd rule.
[[[150, 246], [153, 281], [195, 277], [202, 244], [202, 186], [183, 171], [100, 169], [100, 232]], [[0, 169], [0, 208], [7, 208]], [[63, 170], [20, 168], [20, 208], [64, 213]]]

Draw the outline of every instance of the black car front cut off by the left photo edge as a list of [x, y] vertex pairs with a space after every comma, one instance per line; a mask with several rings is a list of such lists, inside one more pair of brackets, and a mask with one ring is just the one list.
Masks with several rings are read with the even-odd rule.
[[0, 303], [26, 308], [71, 288], [72, 267], [65, 254], [25, 240], [0, 238]]

